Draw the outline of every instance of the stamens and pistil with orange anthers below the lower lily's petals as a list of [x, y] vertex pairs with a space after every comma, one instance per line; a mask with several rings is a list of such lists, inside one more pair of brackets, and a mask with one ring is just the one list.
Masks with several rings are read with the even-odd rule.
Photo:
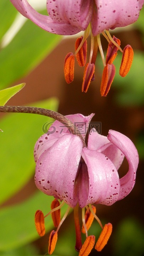
[[[44, 219], [51, 214], [54, 226], [57, 227], [57, 230], [52, 230], [49, 236], [49, 246], [48, 246], [48, 254], [51, 255], [55, 249], [55, 245], [57, 243], [58, 238], [58, 231], [62, 223], [64, 222], [65, 218], [69, 214], [70, 206], [68, 206], [63, 218], [60, 220], [60, 208], [63, 207], [65, 202], [63, 201], [61, 204], [59, 203], [58, 199], [54, 199], [51, 204], [51, 210], [48, 214], [44, 216], [41, 210], [37, 210], [35, 214], [35, 225], [36, 230], [40, 236], [44, 236], [45, 234], [45, 225]], [[56, 206], [54, 208], [54, 206]], [[81, 209], [82, 213], [82, 228], [80, 228], [80, 220], [79, 220], [79, 204], [74, 207], [74, 223], [75, 223], [75, 233], [76, 233], [76, 244], [75, 250], [79, 252], [79, 256], [88, 256], [95, 244], [95, 236], [90, 235], [88, 236], [88, 230], [93, 222], [94, 219], [100, 224], [102, 231], [101, 234], [96, 242], [95, 249], [97, 251], [101, 251], [103, 247], [107, 244], [108, 239], [110, 238], [112, 232], [112, 224], [108, 223], [105, 226], [102, 226], [100, 219], [96, 215], [96, 207], [89, 204]], [[86, 211], [85, 211], [86, 209]], [[86, 235], [86, 240], [82, 245], [81, 233]]]

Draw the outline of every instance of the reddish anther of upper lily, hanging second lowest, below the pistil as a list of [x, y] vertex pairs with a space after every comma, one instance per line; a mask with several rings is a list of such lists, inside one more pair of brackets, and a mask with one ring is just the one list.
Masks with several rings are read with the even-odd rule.
[[87, 92], [91, 79], [95, 72], [95, 65], [92, 63], [87, 63], [84, 70], [84, 77], [82, 83], [82, 92]]

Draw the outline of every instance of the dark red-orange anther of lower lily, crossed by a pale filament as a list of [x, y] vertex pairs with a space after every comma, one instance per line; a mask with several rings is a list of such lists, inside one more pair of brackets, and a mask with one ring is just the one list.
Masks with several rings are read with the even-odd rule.
[[[51, 204], [51, 209], [53, 210], [54, 208], [58, 207], [60, 205], [60, 202], [58, 199], [54, 199]], [[52, 212], [52, 219], [53, 219], [53, 224], [57, 228], [59, 223], [60, 223], [60, 209], [55, 210]]]

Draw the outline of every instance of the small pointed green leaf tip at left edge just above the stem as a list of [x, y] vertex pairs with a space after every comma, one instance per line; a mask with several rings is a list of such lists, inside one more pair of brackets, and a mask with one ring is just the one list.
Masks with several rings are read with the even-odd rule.
[[14, 96], [17, 92], [19, 92], [23, 87], [25, 86], [25, 83], [12, 86], [10, 88], [6, 88], [4, 90], [0, 91], [0, 106], [4, 106], [6, 102]]

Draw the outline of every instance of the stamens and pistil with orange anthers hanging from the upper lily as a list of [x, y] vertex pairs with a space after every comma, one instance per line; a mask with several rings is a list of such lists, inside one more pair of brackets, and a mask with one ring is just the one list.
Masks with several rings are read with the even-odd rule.
[[[87, 58], [87, 37], [91, 34], [91, 50], [89, 56], [89, 62], [86, 63]], [[127, 45], [124, 49], [120, 47], [120, 40], [116, 37], [112, 37], [108, 30], [101, 32], [101, 34], [108, 41], [108, 48], [106, 58], [103, 53], [100, 34], [94, 36], [92, 34], [91, 23], [84, 31], [83, 36], [76, 39], [75, 42], [75, 53], [68, 53], [65, 57], [64, 63], [64, 75], [65, 80], [69, 84], [74, 80], [74, 63], [75, 58], [79, 66], [85, 66], [82, 92], [87, 92], [90, 82], [95, 80], [95, 62], [97, 57], [98, 49], [100, 50], [102, 63], [103, 63], [103, 73], [101, 80], [100, 92], [101, 96], [107, 96], [110, 90], [111, 84], [113, 82], [116, 69], [113, 64], [114, 59], [117, 56], [117, 51], [120, 50], [122, 53], [122, 62], [119, 69], [119, 74], [124, 77], [128, 74], [133, 61], [133, 49], [130, 45]]]

